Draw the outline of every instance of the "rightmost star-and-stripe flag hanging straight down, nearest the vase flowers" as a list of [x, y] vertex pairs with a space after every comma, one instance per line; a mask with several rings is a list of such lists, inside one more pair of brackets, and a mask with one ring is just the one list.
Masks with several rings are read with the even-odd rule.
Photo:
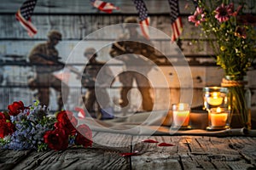
[[183, 23], [181, 17], [178, 16], [178, 0], [168, 0], [171, 8], [171, 29], [172, 29], [172, 42], [179, 37], [183, 31]]

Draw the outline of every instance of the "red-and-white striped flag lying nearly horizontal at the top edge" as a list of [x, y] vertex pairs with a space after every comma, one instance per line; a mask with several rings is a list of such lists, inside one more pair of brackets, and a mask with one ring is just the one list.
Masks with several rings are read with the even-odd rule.
[[108, 14], [112, 13], [113, 9], [119, 10], [119, 8], [115, 7], [113, 3], [107, 3], [100, 0], [90, 0], [90, 2], [92, 6]]

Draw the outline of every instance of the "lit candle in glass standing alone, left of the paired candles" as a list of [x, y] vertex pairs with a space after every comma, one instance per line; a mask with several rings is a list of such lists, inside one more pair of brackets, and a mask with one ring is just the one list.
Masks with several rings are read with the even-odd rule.
[[172, 117], [175, 127], [189, 127], [189, 104], [180, 103], [172, 105]]

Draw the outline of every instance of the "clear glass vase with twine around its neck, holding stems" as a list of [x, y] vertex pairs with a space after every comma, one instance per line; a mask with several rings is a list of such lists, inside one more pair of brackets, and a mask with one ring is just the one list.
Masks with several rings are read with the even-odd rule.
[[246, 76], [225, 76], [221, 86], [229, 89], [230, 127], [250, 129], [251, 92], [247, 87]]

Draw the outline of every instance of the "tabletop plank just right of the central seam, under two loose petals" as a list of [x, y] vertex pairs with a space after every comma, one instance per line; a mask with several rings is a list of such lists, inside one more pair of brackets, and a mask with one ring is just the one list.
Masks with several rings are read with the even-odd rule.
[[[159, 143], [143, 143], [144, 139], [154, 139]], [[174, 146], [160, 147], [161, 142], [172, 143]], [[165, 136], [139, 136], [133, 139], [133, 151], [142, 155], [131, 157], [132, 169], [183, 169], [180, 165], [180, 156], [177, 155], [177, 140]]]

